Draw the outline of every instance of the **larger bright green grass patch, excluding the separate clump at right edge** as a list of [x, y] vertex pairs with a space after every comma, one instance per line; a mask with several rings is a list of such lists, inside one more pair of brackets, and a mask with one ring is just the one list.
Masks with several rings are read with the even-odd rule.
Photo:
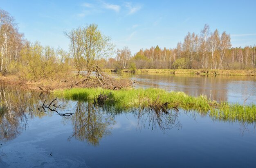
[[102, 88], [74, 88], [69, 90], [56, 90], [54, 95], [71, 100], [93, 101], [99, 94], [106, 94], [106, 104], [116, 107], [148, 107], [157, 100], [159, 104], [168, 103], [168, 107], [181, 107], [197, 111], [209, 111], [210, 103], [205, 96], [188, 96], [183, 92], [166, 92], [163, 89], [121, 89], [108, 90]]

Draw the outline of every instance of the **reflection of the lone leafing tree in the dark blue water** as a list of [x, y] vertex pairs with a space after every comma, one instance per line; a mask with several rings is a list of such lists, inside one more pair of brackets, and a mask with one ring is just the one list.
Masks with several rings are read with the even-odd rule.
[[93, 146], [99, 145], [101, 138], [110, 135], [111, 125], [115, 123], [112, 117], [104, 116], [101, 108], [93, 103], [77, 102], [72, 116], [72, 137], [86, 141]]

